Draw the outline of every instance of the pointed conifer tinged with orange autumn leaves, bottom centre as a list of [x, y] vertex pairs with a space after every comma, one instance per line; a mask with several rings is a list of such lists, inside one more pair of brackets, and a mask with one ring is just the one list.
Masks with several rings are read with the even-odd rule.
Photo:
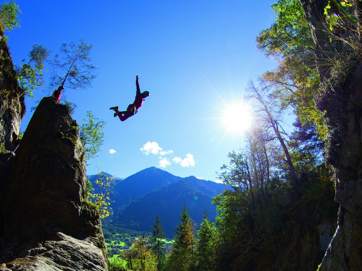
[[196, 267], [196, 225], [190, 218], [185, 205], [181, 211], [180, 220], [173, 237], [175, 241], [166, 262], [168, 271], [192, 271]]

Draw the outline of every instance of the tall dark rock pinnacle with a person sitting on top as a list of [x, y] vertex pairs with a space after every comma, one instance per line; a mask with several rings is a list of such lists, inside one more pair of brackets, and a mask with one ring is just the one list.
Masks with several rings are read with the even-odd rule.
[[100, 218], [85, 201], [84, 147], [67, 107], [43, 98], [12, 160], [0, 262], [10, 270], [106, 269]]

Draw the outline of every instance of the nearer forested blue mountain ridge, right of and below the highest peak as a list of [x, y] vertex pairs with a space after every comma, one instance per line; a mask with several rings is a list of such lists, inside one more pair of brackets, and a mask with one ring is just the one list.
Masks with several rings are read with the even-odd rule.
[[139, 231], [150, 231], [156, 214], [162, 221], [166, 236], [173, 237], [174, 229], [180, 222], [183, 205], [190, 211], [190, 217], [197, 223], [202, 222], [204, 210], [214, 218], [216, 206], [211, 204], [212, 197], [223, 192], [226, 186], [212, 181], [199, 180], [194, 176], [180, 178], [132, 201], [119, 212], [114, 224]]

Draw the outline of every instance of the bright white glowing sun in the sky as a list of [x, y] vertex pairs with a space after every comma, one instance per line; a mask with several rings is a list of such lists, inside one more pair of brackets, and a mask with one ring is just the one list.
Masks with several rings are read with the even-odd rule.
[[228, 132], [244, 134], [252, 125], [252, 110], [244, 101], [227, 105], [222, 117]]

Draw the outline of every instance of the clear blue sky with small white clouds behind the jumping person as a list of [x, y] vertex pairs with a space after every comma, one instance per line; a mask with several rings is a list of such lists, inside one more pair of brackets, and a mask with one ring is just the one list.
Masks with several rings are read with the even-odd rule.
[[[84, 37], [93, 44], [98, 75], [92, 87], [64, 91], [77, 104], [78, 123], [87, 110], [107, 121], [102, 151], [88, 161], [88, 175], [96, 174], [102, 162], [102, 171], [118, 177], [155, 166], [214, 181], [215, 171], [229, 162], [228, 152], [242, 146], [242, 134], [228, 132], [222, 117], [228, 105], [240, 102], [251, 79], [276, 65], [255, 42], [274, 21], [273, 1], [16, 3], [21, 27], [7, 33], [15, 64], [33, 43], [50, 48], [51, 58], [62, 43]], [[141, 91], [150, 96], [135, 116], [121, 122], [109, 107], [126, 110], [133, 102], [137, 74]], [[26, 98], [22, 131], [30, 107], [45, 95], [34, 94]]]

